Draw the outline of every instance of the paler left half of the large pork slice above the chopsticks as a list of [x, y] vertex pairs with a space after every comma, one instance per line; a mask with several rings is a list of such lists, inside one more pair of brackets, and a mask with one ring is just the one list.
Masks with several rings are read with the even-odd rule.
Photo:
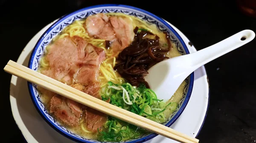
[[48, 52], [46, 58], [49, 61], [49, 69], [41, 73], [63, 83], [72, 84], [73, 75], [79, 69], [76, 64], [79, 60], [76, 44], [70, 37], [64, 37], [56, 40]]

